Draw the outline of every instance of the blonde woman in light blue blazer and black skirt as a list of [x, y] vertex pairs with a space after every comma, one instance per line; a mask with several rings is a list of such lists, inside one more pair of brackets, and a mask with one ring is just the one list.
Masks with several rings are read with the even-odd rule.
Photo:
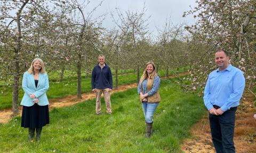
[[22, 88], [24, 95], [21, 100], [21, 127], [28, 128], [29, 141], [40, 140], [43, 126], [49, 124], [49, 101], [46, 91], [49, 89], [48, 75], [44, 62], [35, 58], [28, 71], [23, 74]]

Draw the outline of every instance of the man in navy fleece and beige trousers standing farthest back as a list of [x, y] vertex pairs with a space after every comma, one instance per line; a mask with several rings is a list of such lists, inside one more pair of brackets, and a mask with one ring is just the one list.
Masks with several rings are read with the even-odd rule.
[[107, 113], [111, 114], [110, 92], [113, 80], [110, 67], [105, 63], [105, 56], [99, 55], [99, 63], [92, 70], [92, 91], [96, 93], [96, 114], [100, 114], [100, 98], [103, 92]]

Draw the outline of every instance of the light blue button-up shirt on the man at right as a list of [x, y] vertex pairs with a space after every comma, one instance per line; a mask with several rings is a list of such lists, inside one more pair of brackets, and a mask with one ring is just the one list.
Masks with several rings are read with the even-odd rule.
[[227, 111], [239, 105], [243, 95], [245, 78], [243, 72], [229, 64], [227, 69], [210, 73], [204, 89], [204, 104], [210, 111], [213, 105]]

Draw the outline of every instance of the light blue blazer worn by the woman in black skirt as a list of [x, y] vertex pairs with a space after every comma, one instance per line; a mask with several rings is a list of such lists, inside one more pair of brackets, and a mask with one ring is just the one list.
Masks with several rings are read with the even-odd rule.
[[29, 74], [28, 72], [25, 72], [22, 79], [22, 88], [25, 93], [20, 105], [29, 107], [35, 104], [33, 99], [29, 97], [30, 94], [34, 94], [36, 98], [38, 98], [38, 105], [49, 105], [49, 101], [46, 96], [46, 91], [49, 89], [49, 80], [46, 73], [39, 73], [38, 84], [36, 87], [34, 74]]

